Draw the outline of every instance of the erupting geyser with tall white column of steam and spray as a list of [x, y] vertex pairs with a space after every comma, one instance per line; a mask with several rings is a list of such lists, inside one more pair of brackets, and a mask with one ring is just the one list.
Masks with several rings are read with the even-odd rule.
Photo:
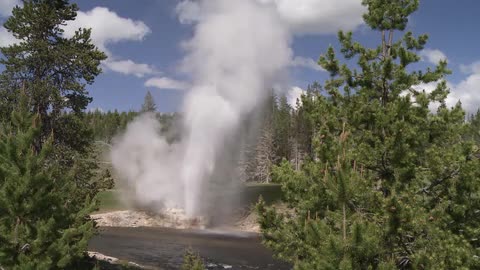
[[186, 1], [177, 11], [195, 23], [183, 44], [192, 87], [181, 110], [182, 139], [167, 143], [158, 121], [143, 115], [117, 138], [111, 158], [137, 203], [212, 215], [212, 194], [230, 187], [242, 121], [285, 75], [290, 34], [270, 5], [254, 0]]

